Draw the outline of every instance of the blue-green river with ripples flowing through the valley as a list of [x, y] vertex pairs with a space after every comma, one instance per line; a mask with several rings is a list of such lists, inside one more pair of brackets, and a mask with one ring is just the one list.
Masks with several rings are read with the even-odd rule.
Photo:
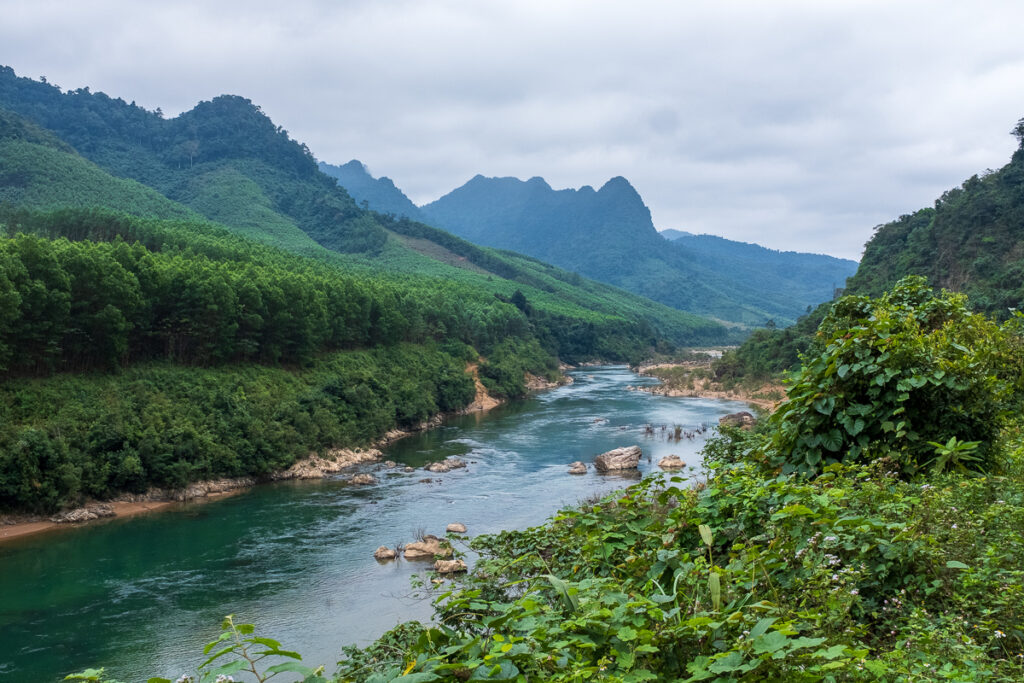
[[[429, 564], [378, 564], [378, 546], [420, 531], [442, 536], [453, 521], [471, 536], [540, 524], [559, 508], [628, 485], [593, 470], [566, 473], [568, 463], [617, 446], [643, 447], [641, 473], [657, 471], [669, 454], [698, 466], [707, 435], [677, 442], [644, 425], [692, 430], [744, 409], [629, 391], [656, 380], [623, 367], [570, 374], [573, 384], [391, 444], [385, 458], [417, 469], [362, 468], [377, 485], [266, 484], [0, 545], [0, 680], [55, 681], [91, 666], [132, 683], [173, 680], [195, 673], [228, 613], [333, 672], [342, 645], [430, 616], [410, 581]], [[469, 466], [420, 469], [449, 456]]]

